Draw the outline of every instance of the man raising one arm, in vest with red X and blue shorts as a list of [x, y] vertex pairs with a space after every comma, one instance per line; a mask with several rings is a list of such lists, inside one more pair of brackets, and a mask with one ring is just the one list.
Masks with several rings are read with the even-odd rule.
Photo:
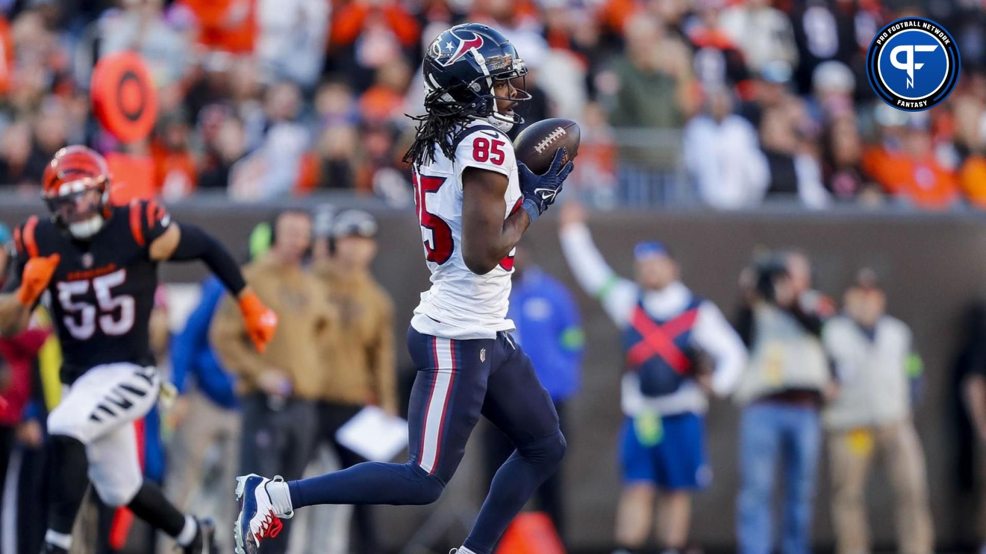
[[678, 280], [677, 264], [662, 243], [638, 243], [637, 279], [622, 279], [599, 254], [585, 219], [578, 203], [562, 206], [562, 251], [579, 284], [620, 327], [627, 356], [621, 394], [624, 485], [615, 539], [627, 550], [647, 542], [658, 501], [659, 543], [681, 550], [688, 539], [691, 491], [711, 480], [703, 440], [706, 395], [733, 390], [746, 350], [716, 305]]

